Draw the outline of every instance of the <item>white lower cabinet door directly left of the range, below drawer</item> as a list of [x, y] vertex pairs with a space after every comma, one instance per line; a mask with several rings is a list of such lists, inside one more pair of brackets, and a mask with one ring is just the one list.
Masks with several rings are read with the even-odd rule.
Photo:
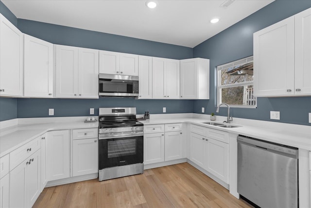
[[98, 138], [73, 140], [73, 176], [98, 172]]

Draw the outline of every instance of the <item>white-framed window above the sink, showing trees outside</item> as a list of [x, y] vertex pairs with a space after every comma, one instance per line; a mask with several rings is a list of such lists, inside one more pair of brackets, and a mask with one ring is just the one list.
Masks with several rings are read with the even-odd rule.
[[253, 56], [217, 66], [217, 105], [256, 108], [253, 80]]

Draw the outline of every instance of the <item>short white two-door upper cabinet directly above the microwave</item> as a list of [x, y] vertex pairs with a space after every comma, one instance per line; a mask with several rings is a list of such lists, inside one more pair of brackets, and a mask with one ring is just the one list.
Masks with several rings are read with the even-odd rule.
[[99, 73], [138, 76], [138, 55], [100, 51]]

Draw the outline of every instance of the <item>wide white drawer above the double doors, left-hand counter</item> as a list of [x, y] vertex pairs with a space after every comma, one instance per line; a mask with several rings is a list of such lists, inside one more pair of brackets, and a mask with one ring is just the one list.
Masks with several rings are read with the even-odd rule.
[[41, 136], [10, 153], [10, 170], [13, 170], [18, 164], [40, 149], [40, 138]]

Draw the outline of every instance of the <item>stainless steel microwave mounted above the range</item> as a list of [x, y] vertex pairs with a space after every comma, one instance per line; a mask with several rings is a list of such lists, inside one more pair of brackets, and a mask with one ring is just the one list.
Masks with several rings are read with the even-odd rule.
[[138, 96], [138, 76], [99, 74], [99, 96]]

